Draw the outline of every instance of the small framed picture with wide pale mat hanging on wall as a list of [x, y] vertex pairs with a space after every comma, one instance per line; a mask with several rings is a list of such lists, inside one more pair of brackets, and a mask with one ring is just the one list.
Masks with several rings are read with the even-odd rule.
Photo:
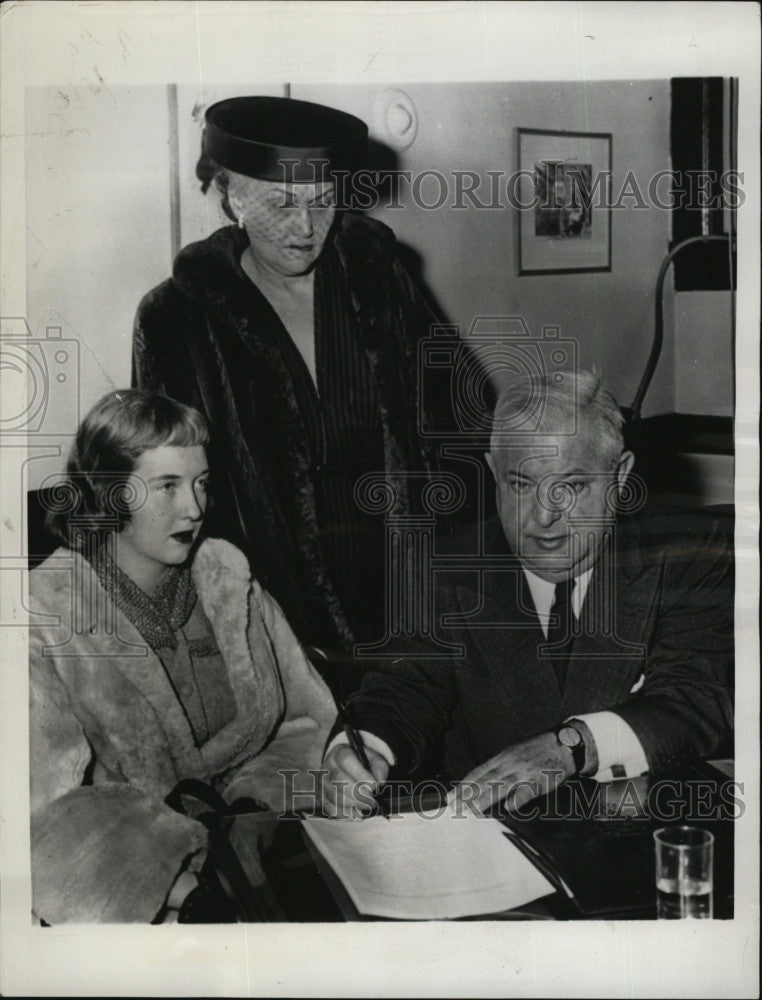
[[517, 129], [518, 273], [611, 270], [611, 133]]

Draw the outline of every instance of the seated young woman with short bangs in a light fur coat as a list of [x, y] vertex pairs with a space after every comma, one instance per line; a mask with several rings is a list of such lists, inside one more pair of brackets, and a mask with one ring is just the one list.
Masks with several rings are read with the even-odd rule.
[[200, 414], [174, 400], [104, 397], [52, 512], [65, 546], [30, 574], [33, 907], [46, 923], [198, 916], [206, 831], [165, 805], [180, 779], [275, 812], [308, 804], [279, 772], [311, 787], [333, 700], [244, 556], [199, 538], [206, 444]]

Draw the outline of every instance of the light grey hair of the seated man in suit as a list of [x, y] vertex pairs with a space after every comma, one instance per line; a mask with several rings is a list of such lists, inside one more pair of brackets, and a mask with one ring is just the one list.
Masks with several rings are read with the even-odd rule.
[[595, 435], [601, 460], [615, 464], [624, 448], [624, 418], [595, 370], [517, 375], [495, 404], [490, 437], [494, 455], [511, 446], [586, 429]]

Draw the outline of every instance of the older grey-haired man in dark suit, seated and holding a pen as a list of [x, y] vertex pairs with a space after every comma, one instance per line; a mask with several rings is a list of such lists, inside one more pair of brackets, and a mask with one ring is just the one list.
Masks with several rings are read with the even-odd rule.
[[502, 530], [482, 567], [438, 574], [458, 648], [401, 645], [368, 672], [350, 710], [370, 770], [329, 743], [329, 813], [432, 750], [479, 808], [518, 809], [570, 777], [667, 771], [732, 730], [732, 548], [702, 515], [622, 516], [639, 506], [633, 456], [597, 376], [507, 386], [486, 458]]

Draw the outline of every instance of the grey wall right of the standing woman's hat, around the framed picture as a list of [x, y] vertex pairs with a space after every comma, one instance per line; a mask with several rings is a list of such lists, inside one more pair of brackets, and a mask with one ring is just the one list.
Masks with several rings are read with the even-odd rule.
[[[418, 134], [399, 154], [400, 169], [516, 169], [515, 128], [611, 132], [613, 190], [628, 171], [641, 187], [669, 167], [669, 82], [410, 84]], [[292, 96], [323, 101], [373, 122], [382, 87], [301, 86]], [[485, 175], [486, 176], [486, 175]], [[407, 191], [409, 189], [403, 189]], [[432, 200], [433, 200], [433, 196]], [[378, 210], [399, 239], [423, 258], [423, 277], [452, 322], [467, 328], [480, 314], [520, 315], [535, 335], [544, 324], [579, 344], [622, 403], [631, 401], [653, 333], [653, 288], [667, 252], [669, 215], [657, 208], [612, 213], [610, 273], [516, 274], [515, 212]], [[631, 204], [631, 202], [630, 202]], [[665, 293], [665, 347], [644, 414], [674, 408], [674, 348]]]

